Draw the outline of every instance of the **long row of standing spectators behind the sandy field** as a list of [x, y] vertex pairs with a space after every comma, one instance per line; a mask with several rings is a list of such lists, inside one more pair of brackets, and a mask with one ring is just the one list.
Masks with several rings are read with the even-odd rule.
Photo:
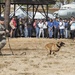
[[36, 37], [36, 38], [72, 38], [75, 37], [75, 29], [72, 24], [75, 18], [48, 18], [46, 19], [22, 19], [12, 17], [9, 23], [10, 37]]

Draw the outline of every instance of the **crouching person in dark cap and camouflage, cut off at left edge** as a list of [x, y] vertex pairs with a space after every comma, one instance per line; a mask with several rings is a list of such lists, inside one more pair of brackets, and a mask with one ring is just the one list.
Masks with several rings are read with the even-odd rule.
[[0, 55], [2, 55], [1, 49], [6, 45], [6, 32], [8, 30], [4, 27], [4, 18], [0, 17]]

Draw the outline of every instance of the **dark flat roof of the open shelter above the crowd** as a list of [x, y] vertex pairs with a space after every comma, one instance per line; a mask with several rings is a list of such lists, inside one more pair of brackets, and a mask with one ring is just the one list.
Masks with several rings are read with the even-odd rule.
[[[28, 4], [28, 5], [40, 5], [40, 4], [55, 4], [56, 0], [11, 0], [11, 4]], [[1, 0], [0, 4], [4, 4], [5, 0]]]

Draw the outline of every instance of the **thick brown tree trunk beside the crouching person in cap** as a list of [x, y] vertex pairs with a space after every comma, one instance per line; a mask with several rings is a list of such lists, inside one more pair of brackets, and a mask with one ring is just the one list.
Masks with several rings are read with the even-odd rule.
[[10, 2], [11, 0], [5, 0], [5, 12], [4, 12], [5, 22], [4, 23], [7, 29], [9, 25]]

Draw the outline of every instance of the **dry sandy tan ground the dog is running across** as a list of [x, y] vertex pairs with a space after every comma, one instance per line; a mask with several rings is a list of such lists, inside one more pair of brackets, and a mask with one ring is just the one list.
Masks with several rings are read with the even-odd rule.
[[[75, 75], [75, 41], [70, 39], [10, 38], [0, 56], [0, 75]], [[47, 43], [63, 41], [64, 47], [48, 55]]]

